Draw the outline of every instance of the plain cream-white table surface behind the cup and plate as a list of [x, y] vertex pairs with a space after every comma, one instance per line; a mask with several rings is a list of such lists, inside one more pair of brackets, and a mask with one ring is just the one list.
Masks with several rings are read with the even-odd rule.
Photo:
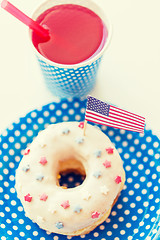
[[[160, 1], [94, 0], [113, 35], [92, 95], [146, 118], [160, 135]], [[42, 0], [11, 0], [31, 16]], [[28, 111], [54, 101], [30, 47], [27, 27], [0, 9], [0, 132]]]

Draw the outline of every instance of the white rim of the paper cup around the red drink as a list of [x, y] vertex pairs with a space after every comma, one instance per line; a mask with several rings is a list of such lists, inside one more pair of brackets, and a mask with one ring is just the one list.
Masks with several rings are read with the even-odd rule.
[[[99, 59], [104, 51], [108, 48], [110, 42], [111, 42], [111, 37], [112, 37], [112, 25], [111, 25], [111, 22], [110, 22], [110, 18], [108, 17], [108, 14], [105, 14], [102, 9], [95, 3], [93, 2], [92, 0], [87, 0], [91, 3], [94, 3], [94, 5], [100, 9], [100, 11], [103, 13], [103, 15], [105, 16], [105, 19], [107, 20], [107, 30], [108, 30], [108, 36], [107, 36], [107, 40], [103, 46], [103, 48], [101, 49], [101, 51], [99, 53], [97, 53], [94, 57], [91, 57], [90, 59], [88, 60], [85, 60], [83, 62], [80, 62], [80, 63], [75, 63], [75, 64], [62, 64], [62, 63], [56, 63], [56, 62], [53, 62], [49, 59], [47, 59], [46, 57], [44, 57], [42, 54], [40, 54], [38, 52], [38, 50], [35, 48], [35, 46], [33, 45], [33, 42], [32, 42], [32, 39], [31, 39], [31, 31], [29, 29], [29, 36], [30, 36], [30, 41], [31, 41], [31, 45], [32, 45], [32, 48], [34, 49], [34, 52], [35, 54], [37, 55], [37, 57], [44, 61], [45, 63], [47, 63], [48, 65], [51, 65], [51, 66], [54, 66], [54, 67], [58, 67], [58, 68], [66, 68], [66, 69], [69, 69], [69, 68], [73, 68], [73, 69], [76, 69], [76, 68], [81, 68], [81, 67], [84, 67], [86, 65], [91, 65], [93, 62], [95, 62], [97, 59]], [[45, 3], [48, 2], [48, 1], [45, 1], [43, 2], [42, 4], [39, 5], [39, 7], [37, 7], [33, 13], [33, 15], [35, 14], [35, 12], [40, 9], [41, 7], [43, 7], [43, 5], [45, 5]], [[69, 4], [68, 2], [66, 4]], [[73, 3], [74, 4], [74, 3]], [[75, 3], [76, 5], [80, 5], [80, 4], [77, 4]], [[55, 5], [56, 6], [56, 5]]]

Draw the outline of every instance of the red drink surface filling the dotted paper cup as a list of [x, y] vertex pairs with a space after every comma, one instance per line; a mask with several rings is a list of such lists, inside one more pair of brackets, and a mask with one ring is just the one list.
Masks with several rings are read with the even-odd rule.
[[104, 24], [88, 8], [63, 4], [43, 12], [36, 20], [49, 29], [50, 40], [43, 42], [32, 32], [32, 42], [47, 59], [61, 64], [76, 64], [90, 58], [99, 48]]

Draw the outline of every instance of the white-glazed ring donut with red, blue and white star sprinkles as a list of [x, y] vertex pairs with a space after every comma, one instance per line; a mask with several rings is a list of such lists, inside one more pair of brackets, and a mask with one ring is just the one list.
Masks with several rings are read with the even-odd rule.
[[[122, 160], [95, 126], [63, 122], [41, 131], [24, 151], [16, 190], [27, 217], [49, 232], [76, 236], [109, 216], [125, 182]], [[59, 174], [78, 171], [83, 183], [63, 188]]]

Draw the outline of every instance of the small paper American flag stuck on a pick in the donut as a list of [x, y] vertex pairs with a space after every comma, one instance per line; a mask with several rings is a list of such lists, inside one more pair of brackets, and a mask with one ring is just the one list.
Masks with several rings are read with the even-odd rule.
[[85, 120], [144, 133], [145, 118], [88, 96]]

